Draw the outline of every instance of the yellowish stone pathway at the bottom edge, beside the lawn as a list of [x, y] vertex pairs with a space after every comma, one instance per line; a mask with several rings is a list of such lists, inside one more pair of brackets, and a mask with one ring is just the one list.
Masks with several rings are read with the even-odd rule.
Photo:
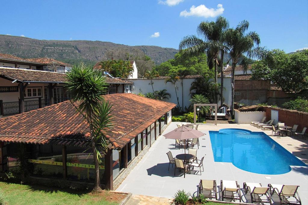
[[125, 205], [169, 205], [172, 204], [172, 198], [162, 198], [145, 195], [132, 195]]

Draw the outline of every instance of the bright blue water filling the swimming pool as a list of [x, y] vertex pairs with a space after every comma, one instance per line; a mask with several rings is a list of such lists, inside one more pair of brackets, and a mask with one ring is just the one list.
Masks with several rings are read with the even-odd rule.
[[215, 162], [258, 174], [284, 174], [291, 166], [306, 166], [263, 132], [246, 129], [209, 131]]

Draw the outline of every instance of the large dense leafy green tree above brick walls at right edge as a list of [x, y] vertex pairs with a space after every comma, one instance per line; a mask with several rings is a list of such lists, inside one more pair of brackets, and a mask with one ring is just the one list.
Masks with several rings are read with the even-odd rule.
[[299, 95], [308, 90], [308, 50], [286, 54], [274, 49], [270, 57], [252, 65], [252, 79], [271, 80], [285, 92]]

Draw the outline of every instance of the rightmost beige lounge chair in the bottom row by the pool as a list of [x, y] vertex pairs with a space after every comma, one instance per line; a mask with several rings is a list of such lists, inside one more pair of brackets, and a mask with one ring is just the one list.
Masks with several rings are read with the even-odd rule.
[[282, 185], [282, 184], [268, 184], [271, 194], [276, 192], [279, 196], [280, 204], [299, 204], [301, 205], [301, 199], [297, 193], [299, 186], [295, 185]]

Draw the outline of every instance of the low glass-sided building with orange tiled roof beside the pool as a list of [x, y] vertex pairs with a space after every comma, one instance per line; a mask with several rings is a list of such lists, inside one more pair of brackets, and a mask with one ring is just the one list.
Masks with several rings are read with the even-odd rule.
[[[107, 131], [100, 174], [101, 183], [113, 190], [160, 137], [176, 105], [131, 93], [104, 98], [112, 106], [114, 126]], [[64, 101], [0, 118], [0, 172], [13, 170], [18, 150], [25, 149], [35, 165], [32, 176], [93, 182], [89, 124], [77, 106]]]

